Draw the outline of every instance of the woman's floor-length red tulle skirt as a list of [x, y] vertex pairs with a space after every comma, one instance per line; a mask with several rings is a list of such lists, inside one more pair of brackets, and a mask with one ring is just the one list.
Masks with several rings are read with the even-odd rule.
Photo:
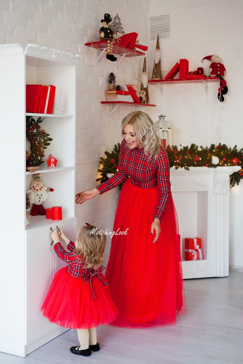
[[185, 314], [177, 214], [170, 195], [153, 244], [151, 224], [158, 203], [158, 187], [142, 189], [128, 179], [121, 190], [114, 219], [114, 235], [105, 277], [120, 315], [115, 326], [146, 328], [174, 324]]

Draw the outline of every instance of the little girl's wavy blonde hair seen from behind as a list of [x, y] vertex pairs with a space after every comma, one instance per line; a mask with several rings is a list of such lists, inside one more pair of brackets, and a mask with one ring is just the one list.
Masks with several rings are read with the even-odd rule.
[[76, 250], [85, 262], [83, 268], [99, 267], [104, 261], [103, 253], [106, 245], [106, 236], [99, 234], [99, 232], [102, 232], [102, 230], [97, 229], [93, 225], [82, 226], [78, 229], [78, 247]]

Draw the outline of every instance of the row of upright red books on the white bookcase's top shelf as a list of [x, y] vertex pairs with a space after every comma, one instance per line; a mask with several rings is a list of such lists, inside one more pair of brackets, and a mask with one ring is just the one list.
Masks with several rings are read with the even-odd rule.
[[26, 85], [26, 112], [51, 114], [56, 87]]

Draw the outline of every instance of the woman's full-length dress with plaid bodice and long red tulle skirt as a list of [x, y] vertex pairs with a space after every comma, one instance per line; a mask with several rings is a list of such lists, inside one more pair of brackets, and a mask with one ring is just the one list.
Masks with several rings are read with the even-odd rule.
[[[173, 324], [186, 313], [180, 238], [169, 181], [169, 159], [161, 147], [158, 158], [143, 148], [120, 147], [118, 172], [96, 187], [100, 193], [124, 182], [114, 219], [114, 236], [105, 277], [122, 327]], [[161, 221], [153, 244], [151, 225]]]

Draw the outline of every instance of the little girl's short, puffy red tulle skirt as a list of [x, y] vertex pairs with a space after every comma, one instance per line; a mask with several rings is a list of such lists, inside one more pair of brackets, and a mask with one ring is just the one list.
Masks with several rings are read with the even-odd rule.
[[[102, 274], [102, 273], [100, 273]], [[118, 316], [110, 297], [109, 286], [96, 276], [91, 281], [74, 278], [67, 267], [56, 272], [47, 292], [41, 311], [52, 323], [71, 329], [90, 329], [99, 324], [109, 324]]]

